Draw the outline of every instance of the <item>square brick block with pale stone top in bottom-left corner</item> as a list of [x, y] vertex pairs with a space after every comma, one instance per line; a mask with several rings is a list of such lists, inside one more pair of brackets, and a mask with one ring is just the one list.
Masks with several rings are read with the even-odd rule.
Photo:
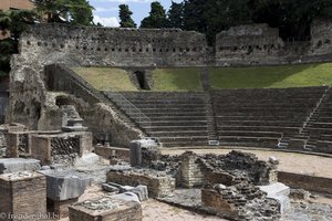
[[34, 221], [33, 215], [46, 215], [46, 180], [41, 173], [0, 175], [0, 196], [2, 220]]

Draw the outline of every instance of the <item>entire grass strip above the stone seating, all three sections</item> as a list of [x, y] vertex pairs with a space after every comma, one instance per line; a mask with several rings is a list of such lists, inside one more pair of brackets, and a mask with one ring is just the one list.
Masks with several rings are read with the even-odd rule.
[[[112, 67], [73, 69], [97, 90], [137, 91], [126, 71]], [[332, 85], [332, 63], [256, 67], [210, 67], [212, 88], [283, 88]], [[156, 92], [201, 91], [200, 67], [153, 71]]]

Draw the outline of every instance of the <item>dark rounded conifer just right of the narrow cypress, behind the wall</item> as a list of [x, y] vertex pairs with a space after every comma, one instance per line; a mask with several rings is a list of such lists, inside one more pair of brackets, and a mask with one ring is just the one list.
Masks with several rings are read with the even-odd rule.
[[151, 12], [149, 15], [144, 18], [141, 23], [141, 28], [147, 29], [159, 29], [166, 28], [166, 11], [164, 7], [158, 1], [154, 1], [151, 3]]

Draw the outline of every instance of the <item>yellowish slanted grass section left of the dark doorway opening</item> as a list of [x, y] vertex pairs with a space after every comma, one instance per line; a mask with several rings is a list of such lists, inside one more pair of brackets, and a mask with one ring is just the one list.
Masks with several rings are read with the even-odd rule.
[[137, 91], [126, 71], [110, 67], [74, 67], [80, 76], [100, 91]]

